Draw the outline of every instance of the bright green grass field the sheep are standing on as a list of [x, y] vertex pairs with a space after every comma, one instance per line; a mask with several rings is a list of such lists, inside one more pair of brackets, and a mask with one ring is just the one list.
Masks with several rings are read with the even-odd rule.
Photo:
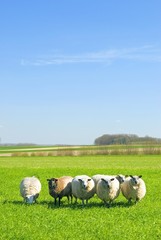
[[[145, 198], [128, 205], [120, 195], [111, 208], [96, 196], [89, 204], [53, 205], [47, 178], [97, 173], [143, 175]], [[0, 157], [0, 239], [155, 240], [161, 239], [161, 155]], [[42, 183], [38, 202], [26, 205], [19, 194], [25, 176]]]

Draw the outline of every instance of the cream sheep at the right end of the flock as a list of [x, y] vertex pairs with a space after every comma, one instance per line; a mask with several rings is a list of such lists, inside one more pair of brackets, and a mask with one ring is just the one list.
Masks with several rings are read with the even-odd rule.
[[146, 186], [145, 182], [141, 179], [140, 176], [132, 176], [130, 175], [125, 179], [125, 182], [121, 185], [121, 191], [123, 196], [130, 203], [132, 200], [137, 203], [140, 201], [146, 194]]

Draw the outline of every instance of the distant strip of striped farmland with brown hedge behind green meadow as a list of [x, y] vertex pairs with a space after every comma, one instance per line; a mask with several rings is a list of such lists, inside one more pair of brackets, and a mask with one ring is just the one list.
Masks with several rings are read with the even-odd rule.
[[160, 144], [87, 146], [0, 146], [0, 156], [157, 155]]

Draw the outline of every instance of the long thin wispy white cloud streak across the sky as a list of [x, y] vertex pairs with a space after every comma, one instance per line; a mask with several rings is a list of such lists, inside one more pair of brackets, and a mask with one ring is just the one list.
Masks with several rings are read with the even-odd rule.
[[117, 60], [161, 62], [161, 50], [146, 45], [139, 48], [109, 49], [76, 55], [53, 54], [34, 59], [22, 59], [21, 65], [45, 66], [72, 63], [112, 63]]

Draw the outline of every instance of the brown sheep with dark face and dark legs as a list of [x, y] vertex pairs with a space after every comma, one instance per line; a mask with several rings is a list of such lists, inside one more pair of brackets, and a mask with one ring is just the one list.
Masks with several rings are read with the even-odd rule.
[[63, 176], [60, 178], [51, 178], [47, 179], [49, 194], [55, 199], [55, 205], [57, 203], [57, 198], [59, 199], [58, 204], [60, 206], [61, 199], [66, 196], [69, 200], [71, 198], [72, 203], [72, 182], [73, 177], [71, 176]]

